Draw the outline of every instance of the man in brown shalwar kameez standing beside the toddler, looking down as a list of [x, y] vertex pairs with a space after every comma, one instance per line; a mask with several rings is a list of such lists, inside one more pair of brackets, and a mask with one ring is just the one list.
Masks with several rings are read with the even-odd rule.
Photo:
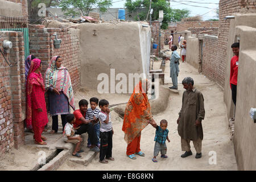
[[194, 81], [191, 77], [185, 77], [182, 81], [184, 89], [182, 106], [177, 119], [177, 130], [181, 137], [181, 150], [185, 151], [181, 158], [192, 155], [190, 141], [193, 141], [196, 149], [196, 159], [201, 158], [201, 147], [203, 140], [203, 127], [201, 124], [204, 119], [204, 97], [203, 94], [193, 88]]

